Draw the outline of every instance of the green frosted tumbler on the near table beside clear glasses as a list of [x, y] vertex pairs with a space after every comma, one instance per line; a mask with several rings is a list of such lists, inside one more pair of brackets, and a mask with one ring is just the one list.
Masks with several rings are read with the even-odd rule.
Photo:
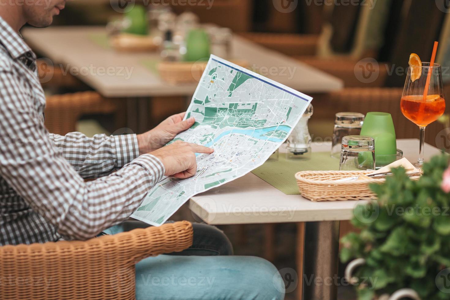
[[392, 116], [387, 112], [368, 112], [361, 128], [361, 135], [375, 140], [376, 165], [387, 166], [396, 160], [397, 141]]

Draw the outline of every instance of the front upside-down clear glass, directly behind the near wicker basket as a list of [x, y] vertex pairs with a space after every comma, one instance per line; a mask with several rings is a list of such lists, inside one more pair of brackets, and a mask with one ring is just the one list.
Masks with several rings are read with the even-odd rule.
[[374, 138], [364, 135], [344, 136], [339, 170], [375, 170]]

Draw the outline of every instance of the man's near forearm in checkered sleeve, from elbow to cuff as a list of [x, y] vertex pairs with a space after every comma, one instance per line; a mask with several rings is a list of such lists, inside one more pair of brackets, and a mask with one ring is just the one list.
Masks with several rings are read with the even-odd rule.
[[109, 176], [81, 184], [67, 213], [52, 222], [64, 239], [94, 237], [128, 219], [164, 172], [159, 159], [145, 154]]

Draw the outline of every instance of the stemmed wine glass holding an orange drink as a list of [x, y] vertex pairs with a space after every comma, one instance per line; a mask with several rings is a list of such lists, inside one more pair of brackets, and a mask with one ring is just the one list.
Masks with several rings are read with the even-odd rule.
[[[415, 81], [411, 80], [412, 68], [422, 69], [422, 75]], [[427, 77], [430, 77], [430, 83], [427, 97], [424, 98]], [[420, 128], [419, 159], [414, 166], [421, 168], [425, 127], [442, 116], [446, 109], [440, 64], [435, 63], [430, 66], [430, 63], [422, 63], [422, 67], [408, 67], [400, 108], [403, 115]]]

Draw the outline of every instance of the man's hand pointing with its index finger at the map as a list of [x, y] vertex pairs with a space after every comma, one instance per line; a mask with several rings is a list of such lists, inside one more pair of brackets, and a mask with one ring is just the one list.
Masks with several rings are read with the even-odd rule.
[[159, 158], [166, 168], [164, 175], [185, 179], [195, 175], [197, 161], [195, 153], [212, 153], [213, 149], [193, 143], [175, 141], [166, 147], [157, 149], [150, 154]]

